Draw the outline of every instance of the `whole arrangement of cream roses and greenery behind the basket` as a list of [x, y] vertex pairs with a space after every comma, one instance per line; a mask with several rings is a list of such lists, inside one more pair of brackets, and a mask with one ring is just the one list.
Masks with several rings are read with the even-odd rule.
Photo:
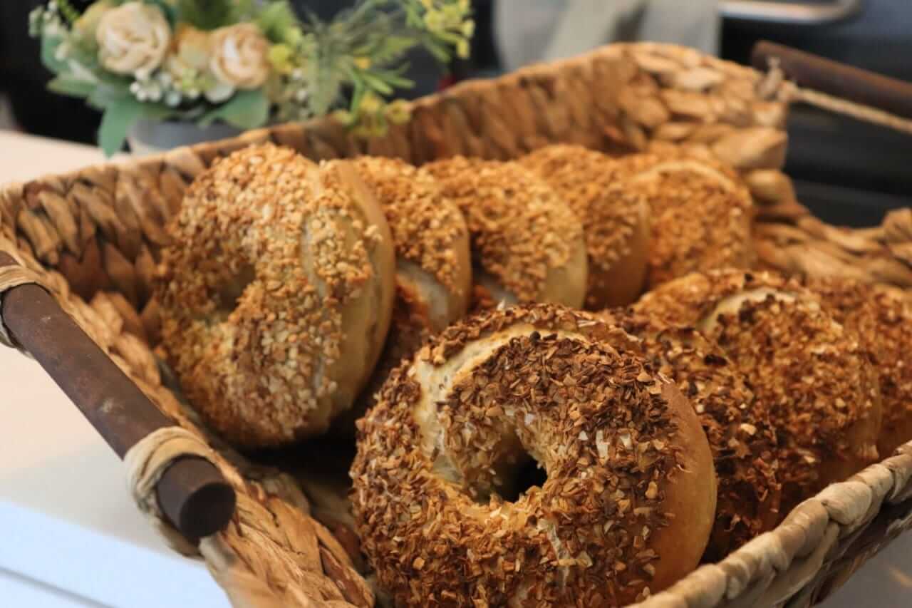
[[413, 83], [405, 54], [469, 54], [470, 0], [359, 0], [330, 22], [287, 0], [52, 0], [30, 16], [48, 88], [103, 112], [98, 143], [119, 151], [142, 119], [253, 129], [332, 113], [363, 136], [406, 121], [389, 100]]

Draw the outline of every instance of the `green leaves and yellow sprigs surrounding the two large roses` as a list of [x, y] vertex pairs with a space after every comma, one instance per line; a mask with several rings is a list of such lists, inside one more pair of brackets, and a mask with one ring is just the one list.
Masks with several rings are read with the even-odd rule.
[[[158, 7], [172, 30], [254, 23], [270, 43], [271, 73], [260, 89], [234, 90], [218, 80], [205, 58], [202, 67], [181, 65], [181, 55], [177, 72], [173, 63], [132, 75], [101, 66], [98, 19], [130, 1], [137, 0], [98, 0], [80, 16], [71, 0], [57, 0], [29, 16], [30, 34], [41, 38], [42, 63], [56, 76], [48, 89], [85, 99], [104, 113], [98, 141], [109, 154], [140, 119], [178, 118], [202, 126], [223, 121], [252, 129], [337, 110], [354, 133], [380, 134], [389, 123], [409, 120], [408, 103], [387, 101], [414, 86], [404, 76], [409, 51], [423, 47], [449, 62], [468, 52], [474, 28], [468, 0], [358, 0], [328, 23], [313, 14], [302, 23], [289, 0], [139, 0]], [[339, 110], [349, 95], [347, 109]]]

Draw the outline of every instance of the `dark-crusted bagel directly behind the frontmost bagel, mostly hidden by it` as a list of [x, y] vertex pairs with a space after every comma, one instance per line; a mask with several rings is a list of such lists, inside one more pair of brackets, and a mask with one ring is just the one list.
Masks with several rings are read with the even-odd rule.
[[653, 372], [678, 385], [710, 442], [719, 478], [716, 521], [703, 561], [720, 561], [779, 520], [779, 445], [769, 413], [717, 344], [693, 328], [629, 310], [600, 315], [640, 341]]

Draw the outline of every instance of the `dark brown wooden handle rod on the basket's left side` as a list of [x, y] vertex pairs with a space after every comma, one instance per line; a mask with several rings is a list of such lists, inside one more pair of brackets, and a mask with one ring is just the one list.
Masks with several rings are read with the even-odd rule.
[[[16, 260], [0, 251], [0, 267]], [[145, 436], [174, 423], [72, 320], [45, 288], [8, 289], [0, 299], [6, 329], [123, 458]], [[209, 536], [233, 517], [233, 487], [210, 461], [175, 460], [161, 475], [156, 497], [162, 513], [187, 539]]]

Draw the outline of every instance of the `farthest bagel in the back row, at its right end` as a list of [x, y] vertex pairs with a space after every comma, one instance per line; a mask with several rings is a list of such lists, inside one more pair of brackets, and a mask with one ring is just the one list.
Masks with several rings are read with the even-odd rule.
[[751, 194], [731, 169], [685, 152], [618, 162], [627, 189], [652, 211], [650, 288], [689, 272], [751, 267]]

